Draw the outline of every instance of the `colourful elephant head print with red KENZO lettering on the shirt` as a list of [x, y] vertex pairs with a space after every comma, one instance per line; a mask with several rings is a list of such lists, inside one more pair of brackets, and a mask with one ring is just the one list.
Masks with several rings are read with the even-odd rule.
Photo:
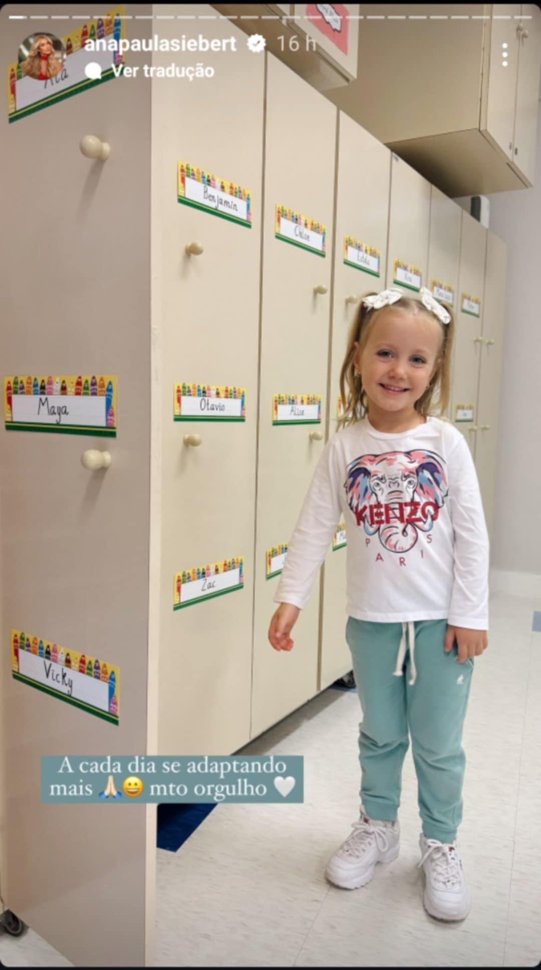
[[395, 553], [412, 549], [419, 530], [432, 531], [449, 494], [445, 461], [423, 448], [356, 458], [343, 487], [357, 525]]

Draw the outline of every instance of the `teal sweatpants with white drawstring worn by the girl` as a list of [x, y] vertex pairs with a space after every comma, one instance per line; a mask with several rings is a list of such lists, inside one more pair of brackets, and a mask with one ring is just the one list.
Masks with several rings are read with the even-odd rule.
[[360, 794], [370, 818], [397, 819], [409, 729], [423, 831], [428, 839], [453, 842], [462, 819], [461, 737], [474, 662], [457, 663], [456, 640], [445, 653], [447, 620], [417, 620], [412, 626], [414, 684], [407, 624], [402, 665], [401, 623], [353, 617], [347, 622], [346, 641], [364, 716], [359, 726]]

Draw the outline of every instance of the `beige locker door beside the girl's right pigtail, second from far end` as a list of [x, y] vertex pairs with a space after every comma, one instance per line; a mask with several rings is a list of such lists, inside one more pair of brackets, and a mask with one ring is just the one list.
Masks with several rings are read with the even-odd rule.
[[[479, 365], [483, 346], [482, 304], [485, 283], [487, 230], [461, 211], [461, 262], [451, 420], [475, 455]], [[464, 308], [462, 308], [464, 307]], [[479, 315], [476, 315], [477, 310]]]

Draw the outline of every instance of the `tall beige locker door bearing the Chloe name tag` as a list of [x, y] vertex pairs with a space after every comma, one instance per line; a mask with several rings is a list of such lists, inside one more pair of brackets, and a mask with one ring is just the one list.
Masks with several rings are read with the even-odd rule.
[[[274, 394], [321, 395], [327, 404], [336, 109], [267, 55], [265, 221], [261, 322], [258, 495], [252, 727], [255, 737], [317, 692], [319, 584], [314, 582], [293, 638], [277, 652], [268, 639], [277, 578], [266, 554], [288, 542], [324, 446], [309, 425], [272, 425]], [[275, 206], [323, 223], [322, 257], [274, 236]], [[327, 293], [316, 294], [316, 286]], [[325, 420], [316, 426], [325, 434]]]

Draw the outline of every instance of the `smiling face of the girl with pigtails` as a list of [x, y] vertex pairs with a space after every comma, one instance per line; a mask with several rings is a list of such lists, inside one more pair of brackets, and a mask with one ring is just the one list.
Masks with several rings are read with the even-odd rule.
[[[441, 341], [440, 325], [427, 313], [389, 307], [380, 314], [361, 356], [355, 343], [354, 364], [361, 373], [370, 417], [389, 411], [401, 420], [413, 415], [414, 404], [436, 371]], [[400, 390], [387, 391], [384, 384]]]

